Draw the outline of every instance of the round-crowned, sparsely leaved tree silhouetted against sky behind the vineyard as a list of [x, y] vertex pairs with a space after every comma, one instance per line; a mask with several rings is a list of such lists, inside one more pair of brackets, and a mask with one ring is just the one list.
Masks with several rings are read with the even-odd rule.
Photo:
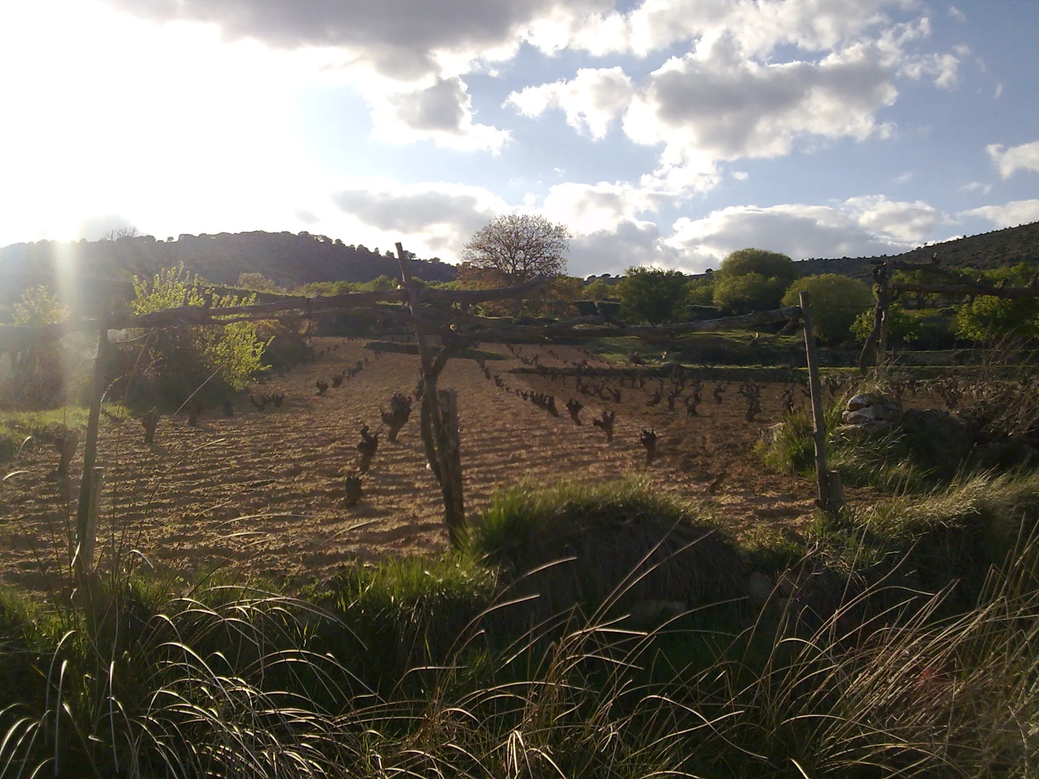
[[539, 274], [561, 275], [569, 244], [570, 234], [562, 224], [533, 214], [508, 214], [496, 217], [470, 239], [462, 261], [498, 271], [509, 281], [526, 281]]

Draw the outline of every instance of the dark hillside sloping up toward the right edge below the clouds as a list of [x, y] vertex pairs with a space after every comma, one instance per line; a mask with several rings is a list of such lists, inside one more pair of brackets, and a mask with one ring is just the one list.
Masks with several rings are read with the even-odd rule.
[[[938, 253], [938, 260], [943, 266], [953, 268], [988, 270], [1021, 262], [1039, 263], [1039, 222], [956, 238], [886, 259], [907, 263], [928, 263], [935, 252]], [[805, 275], [838, 273], [869, 281], [873, 268], [870, 261], [875, 259], [884, 258], [843, 257], [834, 260], [804, 260], [798, 263], [798, 267]]]

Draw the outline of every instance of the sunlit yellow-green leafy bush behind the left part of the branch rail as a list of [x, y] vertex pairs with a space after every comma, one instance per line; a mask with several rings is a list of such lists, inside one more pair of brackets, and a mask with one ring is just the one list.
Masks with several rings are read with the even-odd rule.
[[[151, 281], [134, 277], [134, 292], [136, 297], [130, 302], [134, 314], [185, 305], [209, 304], [217, 310], [256, 302], [256, 295], [218, 295], [202, 287], [198, 277], [183, 265], [157, 273]], [[236, 392], [244, 390], [263, 370], [261, 358], [266, 347], [258, 341], [251, 322], [156, 328], [146, 343], [149, 374], [157, 384], [156, 394], [178, 405], [204, 383], [217, 393], [221, 385]]]

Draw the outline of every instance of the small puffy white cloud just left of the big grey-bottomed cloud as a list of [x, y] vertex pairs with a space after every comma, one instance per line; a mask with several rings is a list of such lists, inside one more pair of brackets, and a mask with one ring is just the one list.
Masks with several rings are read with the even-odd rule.
[[528, 86], [505, 101], [525, 116], [539, 116], [549, 108], [561, 108], [566, 124], [593, 139], [606, 137], [608, 126], [628, 107], [632, 80], [620, 68], [583, 68], [569, 80]]

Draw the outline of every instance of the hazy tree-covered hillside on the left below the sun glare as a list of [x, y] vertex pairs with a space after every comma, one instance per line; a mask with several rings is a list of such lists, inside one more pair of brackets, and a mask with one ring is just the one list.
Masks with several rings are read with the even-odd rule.
[[[395, 259], [363, 245], [309, 233], [182, 235], [165, 241], [152, 236], [116, 241], [37, 241], [0, 249], [0, 275], [43, 279], [54, 277], [59, 266], [75, 268], [75, 275], [84, 278], [128, 279], [179, 263], [217, 284], [234, 284], [240, 273], [262, 273], [284, 287], [311, 281], [370, 281], [398, 273]], [[428, 281], [454, 278], [454, 268], [438, 260], [414, 263], [412, 273]]]

